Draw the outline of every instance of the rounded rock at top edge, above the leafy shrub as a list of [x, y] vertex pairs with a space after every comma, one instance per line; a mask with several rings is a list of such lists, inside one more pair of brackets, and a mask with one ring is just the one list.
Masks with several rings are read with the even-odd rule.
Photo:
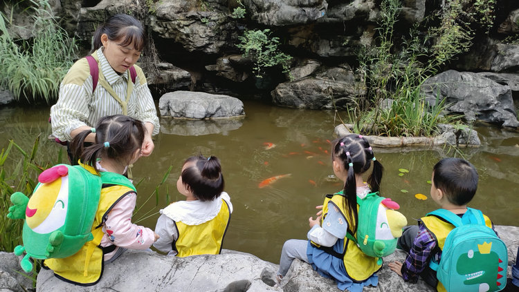
[[293, 26], [325, 16], [325, 0], [244, 0], [247, 12], [258, 23], [268, 26]]

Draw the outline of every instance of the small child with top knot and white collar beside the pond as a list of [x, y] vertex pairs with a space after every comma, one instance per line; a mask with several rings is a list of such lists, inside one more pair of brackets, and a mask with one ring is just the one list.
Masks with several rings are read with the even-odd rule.
[[201, 155], [186, 159], [176, 189], [185, 201], [161, 210], [155, 227], [161, 238], [155, 248], [178, 257], [219, 254], [233, 213], [219, 159]]

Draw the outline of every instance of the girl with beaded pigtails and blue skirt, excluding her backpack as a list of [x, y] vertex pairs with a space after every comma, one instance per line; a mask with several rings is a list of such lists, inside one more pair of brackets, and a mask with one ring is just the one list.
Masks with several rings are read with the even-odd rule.
[[[376, 257], [365, 255], [349, 237], [356, 236], [357, 197], [363, 199], [367, 194], [379, 191], [383, 166], [361, 135], [348, 135], [332, 145], [333, 170], [344, 182], [343, 190], [327, 195], [324, 204], [316, 207], [322, 211], [317, 213], [315, 220], [309, 218], [308, 240], [284, 243], [275, 282], [281, 282], [293, 259], [298, 258], [311, 264], [320, 275], [336, 280], [339, 289], [360, 292], [364, 286], [378, 284], [375, 273], [381, 269], [381, 264]], [[372, 173], [365, 183], [362, 175], [372, 164]]]

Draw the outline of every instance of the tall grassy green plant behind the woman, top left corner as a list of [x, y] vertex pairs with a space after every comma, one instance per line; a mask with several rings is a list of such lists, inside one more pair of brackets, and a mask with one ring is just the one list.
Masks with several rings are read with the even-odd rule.
[[10, 17], [0, 13], [0, 88], [20, 99], [57, 98], [60, 82], [75, 59], [77, 46], [57, 24], [48, 1], [31, 0], [31, 42], [11, 35]]

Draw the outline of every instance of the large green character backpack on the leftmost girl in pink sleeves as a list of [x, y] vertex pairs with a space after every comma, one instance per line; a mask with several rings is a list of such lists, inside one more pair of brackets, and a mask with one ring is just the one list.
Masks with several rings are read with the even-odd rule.
[[103, 184], [119, 184], [135, 190], [129, 179], [116, 173], [90, 173], [82, 166], [58, 164], [38, 177], [39, 183], [30, 199], [13, 193], [10, 219], [25, 219], [22, 240], [15, 255], [22, 255], [21, 268], [33, 269], [29, 257], [39, 260], [64, 258], [77, 253], [93, 240], [93, 220]]

